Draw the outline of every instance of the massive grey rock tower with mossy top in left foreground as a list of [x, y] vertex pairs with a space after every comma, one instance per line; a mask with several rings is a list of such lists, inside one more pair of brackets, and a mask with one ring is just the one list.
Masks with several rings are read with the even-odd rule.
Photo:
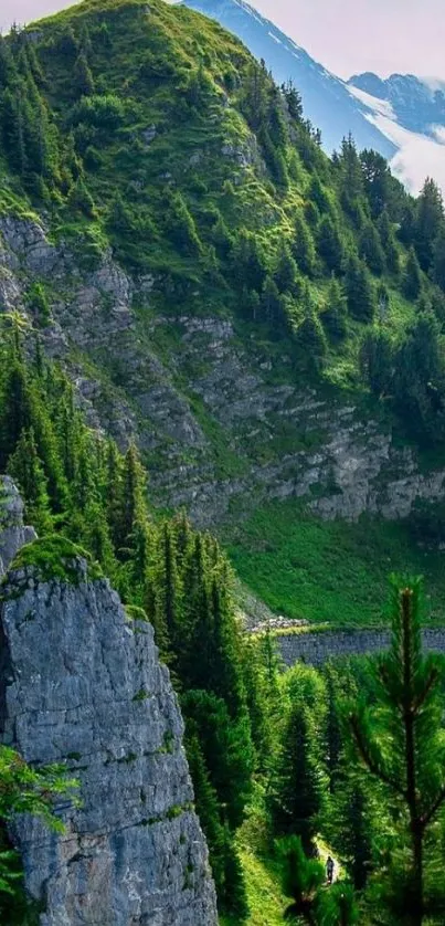
[[[8, 480], [2, 494], [6, 532], [17, 532], [0, 530], [8, 564], [35, 535]], [[14, 825], [40, 924], [216, 926], [182, 718], [152, 629], [73, 551], [28, 546], [0, 599], [1, 740], [80, 781], [80, 806], [56, 808], [63, 834], [28, 817]]]

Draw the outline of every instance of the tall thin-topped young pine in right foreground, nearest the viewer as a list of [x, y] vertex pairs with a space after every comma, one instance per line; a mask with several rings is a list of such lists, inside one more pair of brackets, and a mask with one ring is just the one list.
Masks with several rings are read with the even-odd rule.
[[374, 705], [362, 704], [349, 718], [357, 754], [380, 782], [398, 830], [389, 873], [396, 897], [389, 903], [396, 904], [395, 922], [410, 926], [422, 926], [430, 902], [433, 909], [439, 896], [445, 903], [434, 863], [435, 821], [445, 802], [441, 669], [436, 656], [422, 652], [421, 596], [418, 579], [393, 579], [392, 642], [374, 670]]

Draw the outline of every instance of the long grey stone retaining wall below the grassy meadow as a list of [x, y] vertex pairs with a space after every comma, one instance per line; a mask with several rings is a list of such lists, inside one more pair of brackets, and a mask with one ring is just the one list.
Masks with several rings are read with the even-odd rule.
[[[299, 660], [310, 665], [322, 665], [329, 659], [364, 655], [385, 650], [390, 643], [388, 630], [325, 630], [278, 634], [276, 644], [286, 665]], [[426, 650], [445, 653], [445, 629], [423, 631]]]

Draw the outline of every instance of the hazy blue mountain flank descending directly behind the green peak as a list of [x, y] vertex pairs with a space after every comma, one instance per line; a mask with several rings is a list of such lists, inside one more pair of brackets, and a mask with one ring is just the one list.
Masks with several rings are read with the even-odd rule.
[[395, 145], [369, 122], [370, 111], [351, 97], [345, 82], [244, 0], [188, 0], [187, 6], [237, 35], [258, 61], [266, 62], [278, 84], [294, 82], [305, 115], [321, 129], [325, 150], [338, 150], [351, 133], [360, 149], [374, 148], [386, 158], [395, 154]]

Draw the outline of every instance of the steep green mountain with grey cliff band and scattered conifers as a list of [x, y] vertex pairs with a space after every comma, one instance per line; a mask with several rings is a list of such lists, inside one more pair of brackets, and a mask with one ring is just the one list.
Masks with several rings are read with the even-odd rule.
[[[348, 520], [442, 496], [433, 183], [414, 202], [351, 139], [328, 160], [292, 86], [161, 0], [86, 0], [12, 32], [0, 87], [1, 302], [63, 359], [94, 423], [137, 436], [158, 506], [241, 545], [265, 593], [271, 560], [239, 530], [255, 513], [266, 530], [277, 512], [279, 535], [296, 496]], [[311, 594], [290, 600], [283, 543], [286, 592], [268, 599], [317, 619]]]

